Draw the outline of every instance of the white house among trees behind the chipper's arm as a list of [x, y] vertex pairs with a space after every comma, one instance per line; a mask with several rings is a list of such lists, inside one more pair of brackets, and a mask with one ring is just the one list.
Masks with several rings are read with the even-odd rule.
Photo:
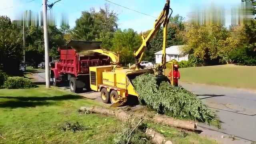
[[[188, 54], [184, 54], [182, 52], [183, 46], [170, 46], [166, 48], [166, 62], [170, 62], [171, 60], [175, 59], [178, 62], [185, 60], [188, 61]], [[156, 64], [160, 64], [162, 62], [162, 50], [155, 53], [156, 55]]]

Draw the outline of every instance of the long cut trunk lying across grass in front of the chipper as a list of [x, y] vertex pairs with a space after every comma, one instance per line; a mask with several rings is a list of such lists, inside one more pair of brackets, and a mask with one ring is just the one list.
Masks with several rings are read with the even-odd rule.
[[[114, 109], [110, 110], [110, 109], [101, 108], [101, 107], [97, 107], [97, 106], [81, 107], [80, 110], [84, 111], [84, 112], [89, 111], [89, 112], [97, 113], [97, 114], [105, 114], [108, 116], [116, 116], [116, 118], [118, 118], [118, 120], [120, 120], [122, 122], [126, 122], [130, 118], [134, 118], [136, 116], [144, 117], [144, 114], [134, 114], [133, 116], [131, 116], [124, 110], [114, 110]], [[164, 124], [164, 125], [168, 125], [168, 126], [173, 126], [175, 128], [183, 128], [183, 129], [192, 130], [192, 131], [194, 131], [197, 128], [197, 124], [194, 122], [185, 121], [185, 120], [176, 120], [174, 118], [169, 118], [165, 115], [157, 115], [156, 114], [152, 119], [147, 118], [147, 120], [151, 120], [158, 124]]]

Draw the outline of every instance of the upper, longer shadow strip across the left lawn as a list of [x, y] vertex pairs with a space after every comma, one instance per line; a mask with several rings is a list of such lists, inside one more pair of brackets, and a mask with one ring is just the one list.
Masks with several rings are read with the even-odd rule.
[[78, 95], [63, 95], [63, 96], [52, 96], [52, 97], [24, 97], [24, 96], [0, 96], [0, 98], [17, 99], [20, 101], [44, 101], [44, 100], [75, 100], [75, 99], [86, 99], [83, 96]]

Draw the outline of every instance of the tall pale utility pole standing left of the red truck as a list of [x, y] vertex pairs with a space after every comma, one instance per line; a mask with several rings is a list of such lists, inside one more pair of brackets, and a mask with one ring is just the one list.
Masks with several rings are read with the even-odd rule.
[[44, 67], [45, 67], [45, 82], [46, 88], [50, 88], [50, 74], [49, 74], [49, 42], [48, 42], [48, 29], [47, 29], [47, 4], [43, 0], [43, 19], [44, 19]]

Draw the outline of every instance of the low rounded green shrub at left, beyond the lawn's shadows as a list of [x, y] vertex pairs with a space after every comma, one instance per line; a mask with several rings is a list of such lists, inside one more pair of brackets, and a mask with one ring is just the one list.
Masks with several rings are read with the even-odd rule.
[[22, 78], [19, 76], [9, 77], [4, 82], [4, 88], [7, 89], [23, 89], [23, 88], [31, 88], [32, 82], [28, 78]]

